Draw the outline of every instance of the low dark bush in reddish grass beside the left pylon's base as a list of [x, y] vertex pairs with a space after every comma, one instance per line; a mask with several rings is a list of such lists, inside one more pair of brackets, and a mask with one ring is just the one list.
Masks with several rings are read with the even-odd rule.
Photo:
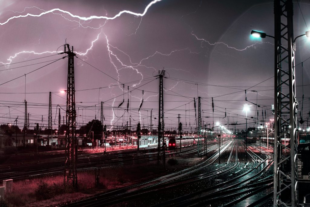
[[46, 200], [59, 194], [71, 193], [72, 191], [73, 188], [67, 183], [54, 182], [52, 185], [48, 185], [46, 182], [40, 181], [35, 190], [35, 196], [37, 200]]

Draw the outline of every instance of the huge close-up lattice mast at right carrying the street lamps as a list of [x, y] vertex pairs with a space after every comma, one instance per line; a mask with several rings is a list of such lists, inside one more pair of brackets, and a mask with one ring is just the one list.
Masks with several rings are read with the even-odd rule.
[[[274, 206], [298, 206], [295, 62], [292, 0], [274, 0], [275, 16], [275, 143]], [[286, 45], [287, 43], [287, 45]], [[285, 86], [285, 87], [282, 87]], [[285, 128], [285, 125], [290, 127]], [[290, 154], [281, 144], [290, 133]], [[285, 168], [285, 164], [290, 169]], [[287, 192], [290, 190], [290, 192]], [[288, 196], [290, 195], [290, 200]], [[289, 200], [289, 201], [288, 201]]]

